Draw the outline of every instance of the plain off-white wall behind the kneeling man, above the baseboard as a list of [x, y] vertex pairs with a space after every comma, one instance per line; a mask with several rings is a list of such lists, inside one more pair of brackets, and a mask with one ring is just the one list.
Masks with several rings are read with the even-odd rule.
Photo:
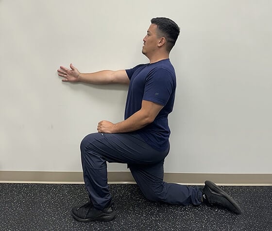
[[62, 83], [56, 70], [146, 63], [142, 38], [164, 16], [182, 29], [165, 171], [271, 173], [271, 9], [270, 0], [0, 0], [0, 170], [81, 171], [80, 141], [99, 121], [123, 119], [127, 87]]

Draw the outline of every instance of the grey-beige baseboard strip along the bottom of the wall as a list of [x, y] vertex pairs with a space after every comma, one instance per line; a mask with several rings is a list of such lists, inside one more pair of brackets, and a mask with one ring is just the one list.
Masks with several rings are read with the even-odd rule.
[[[272, 185], [272, 174], [265, 173], [165, 173], [166, 182], [204, 184], [205, 180], [218, 184]], [[0, 171], [0, 182], [83, 183], [82, 172]], [[134, 182], [130, 172], [108, 172], [108, 182]]]

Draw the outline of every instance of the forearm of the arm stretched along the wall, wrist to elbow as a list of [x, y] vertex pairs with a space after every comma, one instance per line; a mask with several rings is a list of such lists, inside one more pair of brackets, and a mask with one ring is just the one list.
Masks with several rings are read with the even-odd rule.
[[113, 82], [112, 74], [114, 71], [98, 71], [93, 73], [80, 73], [78, 79], [80, 82], [90, 84], [110, 84]]

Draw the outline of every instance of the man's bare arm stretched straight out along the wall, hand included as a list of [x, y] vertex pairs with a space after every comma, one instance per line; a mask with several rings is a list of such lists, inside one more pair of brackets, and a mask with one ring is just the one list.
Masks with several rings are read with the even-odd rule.
[[90, 84], [129, 84], [129, 78], [125, 70], [119, 71], [98, 71], [94, 73], [81, 73], [72, 64], [71, 70], [60, 66], [58, 75], [63, 77], [63, 82], [84, 82]]

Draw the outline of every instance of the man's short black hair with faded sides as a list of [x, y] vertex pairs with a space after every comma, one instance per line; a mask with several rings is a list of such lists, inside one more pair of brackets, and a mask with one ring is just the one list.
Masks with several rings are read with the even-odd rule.
[[151, 23], [157, 25], [158, 36], [166, 39], [166, 49], [171, 51], [180, 33], [179, 26], [170, 18], [152, 18]]

